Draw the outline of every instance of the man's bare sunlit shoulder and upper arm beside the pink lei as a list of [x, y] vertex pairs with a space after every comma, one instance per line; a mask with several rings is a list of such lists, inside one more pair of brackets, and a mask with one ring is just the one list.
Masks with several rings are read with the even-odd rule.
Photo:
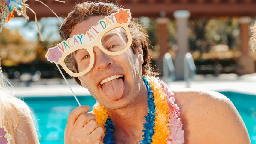
[[185, 143], [251, 143], [241, 116], [226, 96], [192, 89], [173, 92], [180, 107]]

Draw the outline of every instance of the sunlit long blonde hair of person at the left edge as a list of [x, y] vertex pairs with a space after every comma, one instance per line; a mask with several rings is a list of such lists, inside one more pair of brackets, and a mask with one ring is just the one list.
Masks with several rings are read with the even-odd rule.
[[26, 135], [18, 129], [22, 117], [30, 115], [37, 126], [34, 115], [26, 103], [15, 97], [15, 88], [12, 82], [3, 75], [0, 63], [0, 126], [5, 126], [8, 134], [12, 136], [11, 144], [17, 144], [15, 140], [17, 132], [24, 136], [23, 139], [27, 139]]

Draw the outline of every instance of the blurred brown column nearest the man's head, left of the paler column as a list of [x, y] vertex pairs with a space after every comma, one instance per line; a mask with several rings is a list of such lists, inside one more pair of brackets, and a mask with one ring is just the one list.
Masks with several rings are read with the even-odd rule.
[[169, 19], [166, 17], [159, 17], [156, 19], [157, 23], [157, 45], [160, 48], [160, 55], [156, 61], [156, 69], [159, 71], [160, 75], [163, 76], [163, 56], [167, 52], [167, 43], [168, 43], [168, 28], [167, 24]]

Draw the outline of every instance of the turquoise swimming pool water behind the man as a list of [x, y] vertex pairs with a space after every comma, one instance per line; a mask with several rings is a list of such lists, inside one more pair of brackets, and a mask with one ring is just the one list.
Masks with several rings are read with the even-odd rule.
[[[235, 105], [248, 129], [251, 143], [256, 144], [256, 96], [234, 92], [221, 92]], [[79, 102], [93, 107], [96, 100], [92, 96], [78, 96]], [[41, 144], [63, 144], [64, 130], [69, 113], [78, 106], [70, 97], [25, 97], [38, 119]]]

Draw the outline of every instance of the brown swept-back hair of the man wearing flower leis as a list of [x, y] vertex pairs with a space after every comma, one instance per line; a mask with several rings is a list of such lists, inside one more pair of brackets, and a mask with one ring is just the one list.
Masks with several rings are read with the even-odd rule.
[[[59, 29], [59, 35], [67, 40], [70, 37], [72, 29], [80, 22], [86, 21], [87, 19], [93, 16], [108, 16], [112, 13], [115, 13], [119, 10], [117, 4], [105, 3], [105, 2], [83, 2], [81, 4], [76, 4], [75, 8], [69, 13], [69, 15], [64, 19], [62, 25]], [[143, 59], [142, 64], [142, 75], [157, 75], [158, 73], [154, 72], [152, 67], [149, 51], [148, 51], [148, 35], [144, 27], [136, 22], [135, 19], [132, 19], [129, 23], [129, 30], [132, 35], [132, 49], [135, 54], [138, 47], [142, 46], [143, 49]], [[71, 58], [67, 61], [69, 64], [66, 64], [67, 67], [73, 72], [78, 71], [75, 58]], [[81, 82], [77, 77], [74, 77], [75, 81], [81, 85]]]

